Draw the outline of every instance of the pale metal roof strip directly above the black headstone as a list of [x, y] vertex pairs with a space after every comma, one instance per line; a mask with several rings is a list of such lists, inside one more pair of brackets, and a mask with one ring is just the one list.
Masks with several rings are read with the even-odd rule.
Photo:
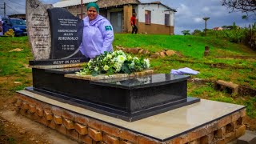
[[[98, 0], [82, 0], [82, 3], [97, 2]], [[81, 0], [68, 0], [54, 3], [54, 7], [67, 7], [81, 5]]]

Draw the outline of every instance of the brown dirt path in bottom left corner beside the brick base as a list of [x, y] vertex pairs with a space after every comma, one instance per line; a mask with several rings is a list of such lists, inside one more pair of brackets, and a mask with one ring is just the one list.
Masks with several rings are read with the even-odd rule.
[[[50, 130], [38, 122], [33, 122], [28, 118], [15, 113], [15, 111], [4, 110], [0, 112], [0, 144], [2, 143], [59, 143], [78, 144], [59, 134], [55, 130]], [[4, 131], [2, 131], [4, 130]], [[1, 133], [2, 131], [2, 133]]]

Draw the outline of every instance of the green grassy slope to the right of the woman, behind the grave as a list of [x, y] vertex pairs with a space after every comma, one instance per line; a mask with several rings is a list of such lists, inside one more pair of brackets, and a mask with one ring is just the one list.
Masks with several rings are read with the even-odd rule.
[[[151, 66], [157, 73], [170, 73], [171, 69], [190, 67], [200, 71], [200, 74], [193, 77], [209, 80], [222, 79], [256, 88], [254, 78], [256, 53], [246, 46], [225, 39], [190, 35], [116, 34], [114, 46], [140, 47], [150, 52], [175, 50], [183, 55], [151, 59]], [[210, 46], [208, 57], [203, 56], [205, 46]], [[220, 69], [214, 65], [223, 66], [223, 68]], [[242, 79], [248, 79], [248, 81], [242, 82]]]

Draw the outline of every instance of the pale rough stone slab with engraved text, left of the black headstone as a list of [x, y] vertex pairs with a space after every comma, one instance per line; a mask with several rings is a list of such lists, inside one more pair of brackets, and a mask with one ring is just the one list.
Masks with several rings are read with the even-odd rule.
[[51, 35], [47, 9], [52, 7], [38, 0], [26, 0], [26, 29], [35, 61], [50, 59]]

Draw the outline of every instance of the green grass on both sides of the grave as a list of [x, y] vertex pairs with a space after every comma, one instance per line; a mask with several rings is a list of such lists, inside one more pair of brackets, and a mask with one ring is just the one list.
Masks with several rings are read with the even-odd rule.
[[[210, 81], [222, 79], [256, 89], [256, 52], [242, 44], [231, 43], [212, 36], [115, 34], [114, 38], [114, 47], [139, 47], [150, 50], [152, 53], [161, 50], [175, 50], [182, 54], [182, 57], [150, 59], [155, 73], [167, 74], [172, 69], [190, 67], [200, 71], [198, 75], [194, 75], [192, 78]], [[210, 56], [208, 57], [203, 56], [205, 46], [210, 46]], [[16, 48], [22, 49], [22, 51], [9, 52]], [[254, 58], [235, 58], [238, 56]], [[10, 94], [14, 94], [16, 90], [22, 90], [24, 87], [32, 85], [31, 69], [27, 68], [29, 60], [32, 59], [27, 37], [0, 37], [0, 78], [7, 77], [10, 81], [0, 82], [0, 88], [3, 92], [9, 90]], [[223, 67], [212, 67], [212, 65], [222, 65]], [[21, 84], [17, 85], [12, 82], [21, 82]], [[213, 83], [196, 85], [189, 82], [188, 94], [219, 102], [246, 105], [247, 114], [256, 118], [256, 98], [246, 95], [233, 96], [226, 94], [225, 91], [216, 91]]]

